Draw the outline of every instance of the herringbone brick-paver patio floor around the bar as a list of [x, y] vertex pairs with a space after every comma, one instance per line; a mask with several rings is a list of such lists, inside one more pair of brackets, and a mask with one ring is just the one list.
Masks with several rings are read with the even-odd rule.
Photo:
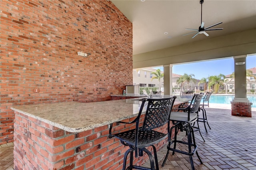
[[[194, 156], [196, 170], [255, 170], [256, 168], [256, 110], [252, 117], [231, 116], [230, 109], [216, 109], [214, 105], [206, 108], [211, 130], [208, 134], [203, 125], [201, 132], [206, 142], [203, 142], [196, 132], [198, 152], [204, 164], [200, 164]], [[224, 108], [224, 107], [223, 107]], [[181, 133], [180, 138], [185, 134]], [[186, 139], [186, 138], [184, 138]], [[182, 148], [178, 144], [179, 148]], [[158, 151], [159, 165], [166, 154], [166, 146]], [[13, 170], [13, 145], [3, 144], [0, 147], [0, 169]], [[145, 166], [150, 166], [148, 163]], [[168, 160], [160, 170], [189, 170], [189, 157], [184, 154], [169, 154]]]

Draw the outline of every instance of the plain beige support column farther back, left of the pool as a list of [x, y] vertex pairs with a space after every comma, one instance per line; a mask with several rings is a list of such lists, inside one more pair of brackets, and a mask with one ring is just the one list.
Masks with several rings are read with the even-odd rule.
[[172, 95], [172, 64], [164, 67], [164, 95]]

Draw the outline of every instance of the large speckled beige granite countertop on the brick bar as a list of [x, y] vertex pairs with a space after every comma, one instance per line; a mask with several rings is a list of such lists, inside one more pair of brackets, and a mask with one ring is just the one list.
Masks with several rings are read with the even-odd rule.
[[[177, 97], [174, 105], [188, 100]], [[140, 105], [141, 101], [138, 99], [122, 99], [92, 103], [61, 102], [18, 105], [11, 107], [11, 109], [68, 132], [83, 132], [136, 117]], [[146, 111], [146, 105], [144, 111]]]

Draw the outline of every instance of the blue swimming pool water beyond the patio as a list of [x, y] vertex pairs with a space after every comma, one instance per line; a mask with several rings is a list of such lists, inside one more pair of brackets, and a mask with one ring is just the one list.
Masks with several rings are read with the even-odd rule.
[[[230, 104], [234, 97], [234, 95], [211, 95], [209, 103]], [[247, 99], [252, 102], [252, 107], [256, 107], [256, 96], [247, 96]]]

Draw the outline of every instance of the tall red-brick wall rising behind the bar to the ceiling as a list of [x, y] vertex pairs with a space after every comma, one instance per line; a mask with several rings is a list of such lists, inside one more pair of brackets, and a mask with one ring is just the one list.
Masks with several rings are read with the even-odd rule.
[[0, 8], [0, 144], [13, 141], [13, 105], [105, 101], [132, 84], [132, 23], [112, 2], [1, 0]]

